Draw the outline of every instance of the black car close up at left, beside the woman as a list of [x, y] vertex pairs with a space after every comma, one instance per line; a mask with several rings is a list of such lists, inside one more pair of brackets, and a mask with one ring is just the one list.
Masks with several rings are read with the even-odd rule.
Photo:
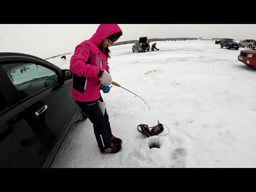
[[46, 60], [0, 53], [1, 168], [50, 166], [68, 130], [86, 119], [71, 96], [72, 81], [70, 70]]

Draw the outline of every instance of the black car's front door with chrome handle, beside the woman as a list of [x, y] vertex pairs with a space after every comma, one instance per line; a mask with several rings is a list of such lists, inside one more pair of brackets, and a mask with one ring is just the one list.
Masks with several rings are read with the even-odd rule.
[[[15, 59], [12, 64], [17, 65], [18, 72], [13, 77], [13, 84], [22, 96], [20, 105], [36, 121], [36, 128], [32, 129], [34, 137], [47, 153], [54, 156], [62, 142], [66, 125], [77, 114], [78, 106], [70, 94], [72, 78], [62, 80], [59, 69], [42, 60], [22, 58], [20, 62], [20, 58]], [[24, 66], [30, 69], [19, 72], [19, 68]]]

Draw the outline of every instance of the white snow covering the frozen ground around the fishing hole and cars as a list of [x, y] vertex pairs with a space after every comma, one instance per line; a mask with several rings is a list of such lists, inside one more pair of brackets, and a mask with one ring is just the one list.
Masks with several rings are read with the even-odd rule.
[[[159, 51], [138, 53], [132, 45], [110, 47], [110, 74], [150, 110], [120, 87], [101, 92], [122, 150], [100, 154], [87, 119], [72, 127], [52, 167], [256, 167], [256, 70], [237, 59], [247, 48], [221, 49], [210, 40], [168, 41], [157, 42]], [[48, 61], [69, 69], [71, 56]], [[152, 127], [158, 120], [170, 133], [160, 137], [160, 148], [150, 149], [159, 136], [147, 138], [137, 126]]]

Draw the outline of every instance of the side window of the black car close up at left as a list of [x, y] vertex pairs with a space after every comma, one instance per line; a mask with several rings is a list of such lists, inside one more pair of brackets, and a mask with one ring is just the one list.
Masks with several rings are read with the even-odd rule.
[[57, 74], [35, 63], [8, 63], [2, 68], [22, 98], [44, 90], [58, 81]]

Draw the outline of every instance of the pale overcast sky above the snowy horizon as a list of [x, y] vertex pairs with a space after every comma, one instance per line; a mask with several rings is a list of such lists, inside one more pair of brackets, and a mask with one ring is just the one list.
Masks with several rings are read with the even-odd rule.
[[[256, 39], [256, 24], [118, 24], [118, 42], [148, 38]], [[0, 52], [20, 52], [48, 58], [74, 52], [99, 24], [0, 24]]]

